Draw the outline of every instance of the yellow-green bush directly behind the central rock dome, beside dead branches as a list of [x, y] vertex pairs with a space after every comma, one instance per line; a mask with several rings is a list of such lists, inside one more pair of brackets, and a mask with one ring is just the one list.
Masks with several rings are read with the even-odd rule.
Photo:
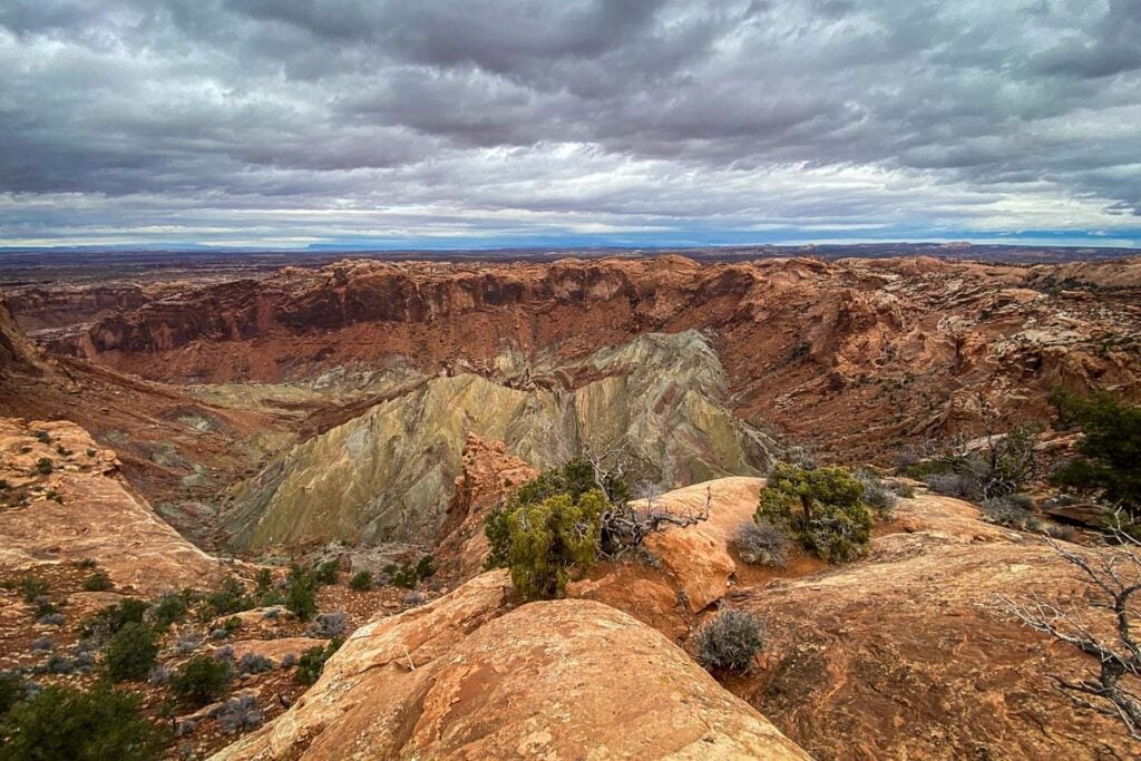
[[511, 569], [511, 582], [524, 599], [563, 597], [573, 575], [598, 557], [607, 504], [602, 492], [593, 489], [577, 499], [557, 494], [494, 510], [485, 525], [489, 562]]

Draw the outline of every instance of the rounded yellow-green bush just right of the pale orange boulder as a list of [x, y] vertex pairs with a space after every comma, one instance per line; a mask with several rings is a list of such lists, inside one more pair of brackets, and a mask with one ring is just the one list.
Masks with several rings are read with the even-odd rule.
[[872, 539], [864, 485], [847, 468], [777, 463], [761, 489], [756, 521], [783, 526], [826, 562], [863, 557]]

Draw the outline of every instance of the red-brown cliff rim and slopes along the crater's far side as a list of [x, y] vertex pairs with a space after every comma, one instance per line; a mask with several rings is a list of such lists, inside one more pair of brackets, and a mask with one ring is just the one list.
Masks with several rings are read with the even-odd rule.
[[165, 293], [51, 346], [152, 379], [276, 382], [701, 330], [739, 416], [883, 459], [884, 443], [1041, 418], [1054, 384], [1141, 394], [1139, 261], [345, 261]]

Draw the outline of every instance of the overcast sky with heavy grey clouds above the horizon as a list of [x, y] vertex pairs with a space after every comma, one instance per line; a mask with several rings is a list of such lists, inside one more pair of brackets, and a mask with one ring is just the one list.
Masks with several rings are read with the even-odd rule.
[[1141, 1], [0, 1], [0, 245], [883, 238], [1141, 245]]

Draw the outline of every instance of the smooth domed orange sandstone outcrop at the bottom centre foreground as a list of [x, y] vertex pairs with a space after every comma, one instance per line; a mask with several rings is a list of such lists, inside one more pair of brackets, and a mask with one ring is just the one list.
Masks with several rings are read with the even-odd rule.
[[807, 759], [680, 648], [585, 600], [507, 612], [504, 572], [349, 638], [236, 759]]

